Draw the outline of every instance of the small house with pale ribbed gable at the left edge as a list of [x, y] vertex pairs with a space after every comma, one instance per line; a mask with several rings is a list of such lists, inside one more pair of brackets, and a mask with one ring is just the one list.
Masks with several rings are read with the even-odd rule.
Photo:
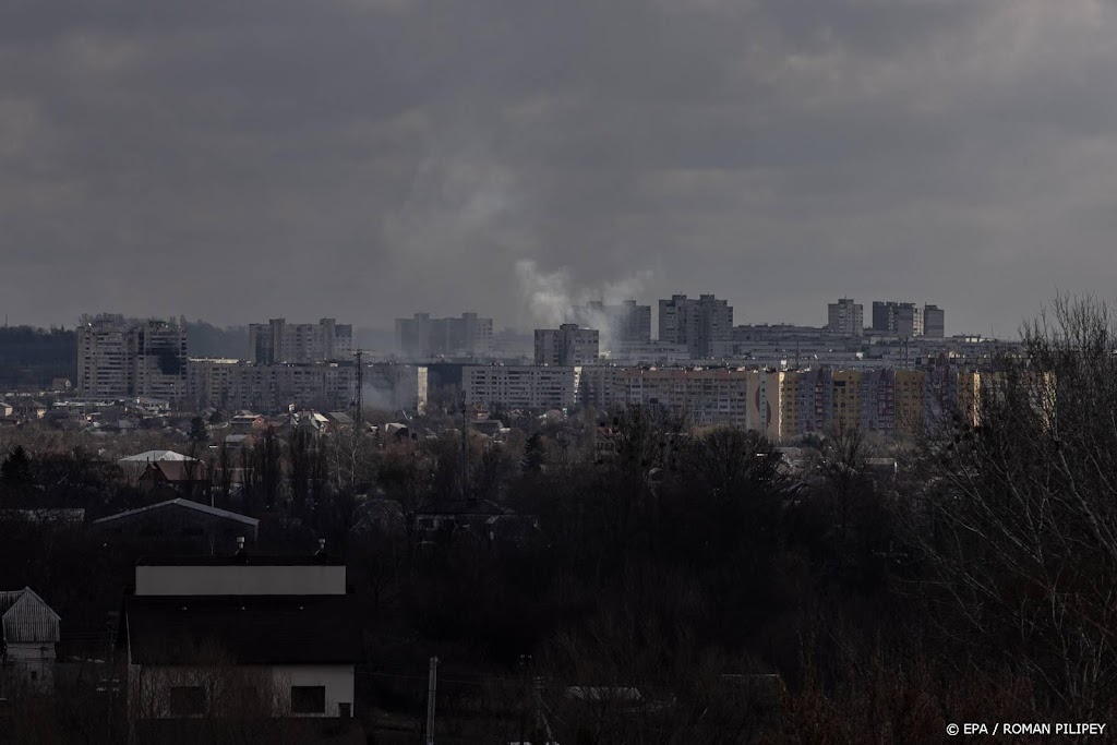
[[58, 613], [30, 588], [0, 591], [0, 624], [3, 627], [0, 675], [4, 684], [45, 693], [54, 688], [59, 621]]

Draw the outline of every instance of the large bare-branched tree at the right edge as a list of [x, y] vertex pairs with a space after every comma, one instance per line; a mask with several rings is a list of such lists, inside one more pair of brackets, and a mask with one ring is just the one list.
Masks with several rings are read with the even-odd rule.
[[1098, 717], [1117, 682], [1117, 329], [1105, 304], [1062, 297], [1023, 341], [981, 375], [973, 419], [925, 443], [908, 526], [953, 609], [943, 630]]

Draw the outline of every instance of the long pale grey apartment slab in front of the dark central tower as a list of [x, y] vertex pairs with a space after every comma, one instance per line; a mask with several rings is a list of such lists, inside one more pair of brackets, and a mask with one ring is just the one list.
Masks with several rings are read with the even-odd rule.
[[506, 409], [564, 409], [576, 405], [582, 369], [576, 366], [466, 365], [466, 403]]

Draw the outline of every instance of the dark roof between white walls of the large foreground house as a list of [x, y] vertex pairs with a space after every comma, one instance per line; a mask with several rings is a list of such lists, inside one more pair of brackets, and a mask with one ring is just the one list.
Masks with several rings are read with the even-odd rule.
[[352, 595], [131, 595], [124, 612], [136, 665], [195, 665], [198, 650], [237, 665], [364, 658]]

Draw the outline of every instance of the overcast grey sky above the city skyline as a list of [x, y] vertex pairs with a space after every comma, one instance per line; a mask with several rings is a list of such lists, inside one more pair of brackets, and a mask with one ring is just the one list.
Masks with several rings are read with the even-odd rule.
[[1117, 3], [0, 7], [10, 323], [714, 293], [1003, 336], [1117, 286]]

